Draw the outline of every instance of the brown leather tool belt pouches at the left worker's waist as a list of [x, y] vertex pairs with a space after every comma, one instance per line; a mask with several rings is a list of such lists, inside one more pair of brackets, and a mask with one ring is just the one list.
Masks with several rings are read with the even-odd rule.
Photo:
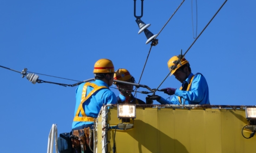
[[93, 133], [90, 127], [74, 130], [70, 138], [74, 153], [84, 153], [85, 151], [90, 152], [90, 148], [93, 148]]

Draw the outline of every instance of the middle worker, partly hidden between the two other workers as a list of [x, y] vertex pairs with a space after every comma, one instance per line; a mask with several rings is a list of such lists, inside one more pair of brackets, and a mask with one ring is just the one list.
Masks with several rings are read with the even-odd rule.
[[[118, 69], [115, 71], [114, 79], [119, 81], [125, 81], [129, 83], [135, 83], [134, 77], [131, 76], [128, 70], [126, 69]], [[130, 84], [122, 84], [122, 83], [114, 83], [116, 87], [120, 91], [119, 96], [116, 97], [118, 103], [128, 103], [128, 104], [146, 104], [138, 98], [135, 98], [132, 95], [133, 85]]]

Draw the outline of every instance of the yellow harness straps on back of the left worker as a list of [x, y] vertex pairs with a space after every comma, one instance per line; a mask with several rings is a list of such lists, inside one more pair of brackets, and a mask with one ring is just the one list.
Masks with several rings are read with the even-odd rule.
[[[88, 94], [88, 96], [86, 96], [86, 92], [87, 92], [87, 87], [91, 86], [94, 89]], [[106, 86], [97, 86], [94, 83], [85, 83], [83, 86], [83, 92], [82, 92], [82, 96], [81, 96], [81, 102], [80, 105], [76, 111], [75, 117], [73, 121], [94, 121], [93, 117], [87, 117], [87, 115], [85, 114], [85, 111], [83, 109], [83, 103], [89, 98], [91, 97], [96, 91], [98, 91], [99, 89], [102, 88], [108, 88]], [[79, 113], [81, 112], [81, 116], [79, 116]]]

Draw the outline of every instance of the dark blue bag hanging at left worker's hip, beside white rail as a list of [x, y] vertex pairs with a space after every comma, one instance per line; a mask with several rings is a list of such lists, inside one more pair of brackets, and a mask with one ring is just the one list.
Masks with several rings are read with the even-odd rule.
[[73, 153], [73, 148], [70, 139], [71, 133], [62, 133], [58, 138], [59, 153]]

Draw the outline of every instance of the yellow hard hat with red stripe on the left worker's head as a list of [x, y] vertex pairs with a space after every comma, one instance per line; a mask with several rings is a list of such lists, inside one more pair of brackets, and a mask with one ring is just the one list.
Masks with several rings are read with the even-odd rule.
[[114, 73], [114, 64], [111, 60], [102, 58], [94, 64], [94, 73]]

